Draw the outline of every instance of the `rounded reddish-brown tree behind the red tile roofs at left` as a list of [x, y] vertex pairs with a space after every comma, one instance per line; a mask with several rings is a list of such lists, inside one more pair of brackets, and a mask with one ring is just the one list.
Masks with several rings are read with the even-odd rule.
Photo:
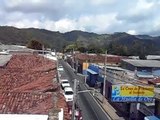
[[42, 43], [37, 40], [31, 40], [27, 44], [28, 48], [42, 50]]

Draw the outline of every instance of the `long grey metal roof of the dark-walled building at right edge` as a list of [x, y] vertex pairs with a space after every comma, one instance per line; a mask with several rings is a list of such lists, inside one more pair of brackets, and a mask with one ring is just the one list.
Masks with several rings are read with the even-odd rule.
[[158, 61], [158, 60], [123, 59], [123, 61], [130, 63], [136, 67], [160, 67], [160, 61]]

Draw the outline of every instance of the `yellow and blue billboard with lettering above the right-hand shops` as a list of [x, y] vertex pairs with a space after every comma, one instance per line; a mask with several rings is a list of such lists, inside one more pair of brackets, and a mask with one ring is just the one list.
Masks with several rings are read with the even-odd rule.
[[112, 85], [113, 102], [152, 102], [153, 86]]

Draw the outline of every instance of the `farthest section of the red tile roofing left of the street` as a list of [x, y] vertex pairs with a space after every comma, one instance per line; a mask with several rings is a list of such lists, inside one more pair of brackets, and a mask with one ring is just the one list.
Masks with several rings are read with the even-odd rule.
[[[39, 55], [13, 55], [6, 68], [16, 70], [41, 70], [42, 68], [55, 67], [55, 62]], [[48, 69], [49, 69], [48, 68]]]

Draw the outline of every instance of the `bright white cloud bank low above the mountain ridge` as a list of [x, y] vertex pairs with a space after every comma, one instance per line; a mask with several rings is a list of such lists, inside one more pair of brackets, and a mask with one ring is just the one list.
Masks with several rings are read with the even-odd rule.
[[[19, 14], [21, 16], [22, 14]], [[97, 33], [105, 33], [106, 30], [109, 29], [114, 22], [117, 22], [115, 19], [115, 14], [107, 14], [107, 15], [95, 15], [95, 16], [81, 16], [78, 19], [60, 19], [58, 21], [53, 20], [33, 20], [30, 21], [27, 18], [21, 19], [19, 21], [8, 22], [7, 24], [10, 26], [16, 26], [18, 28], [45, 28], [48, 30], [67, 32], [72, 30], [83, 30], [83, 31], [94, 31]], [[14, 19], [14, 18], [11, 18]], [[16, 18], [15, 18], [16, 19]], [[92, 28], [91, 28], [92, 26]], [[109, 30], [108, 30], [109, 31]]]

